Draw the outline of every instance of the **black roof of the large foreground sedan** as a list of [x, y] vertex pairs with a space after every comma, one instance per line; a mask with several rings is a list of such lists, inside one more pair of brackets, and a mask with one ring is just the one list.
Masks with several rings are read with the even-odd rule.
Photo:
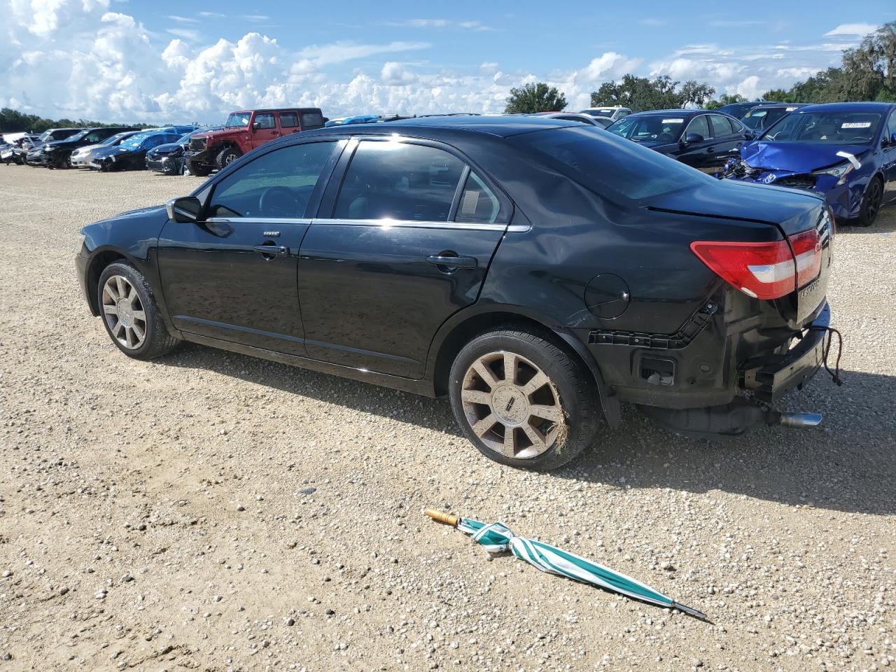
[[564, 121], [548, 116], [528, 115], [452, 115], [452, 116], [418, 116], [413, 119], [399, 119], [385, 124], [355, 124], [330, 126], [307, 131], [309, 134], [371, 134], [371, 133], [396, 133], [405, 129], [410, 133], [420, 129], [427, 130], [460, 130], [473, 133], [496, 135], [498, 137], [510, 137], [530, 133], [531, 131], [544, 131], [549, 128], [564, 128], [567, 126], [579, 127], [582, 124], [574, 121]]

